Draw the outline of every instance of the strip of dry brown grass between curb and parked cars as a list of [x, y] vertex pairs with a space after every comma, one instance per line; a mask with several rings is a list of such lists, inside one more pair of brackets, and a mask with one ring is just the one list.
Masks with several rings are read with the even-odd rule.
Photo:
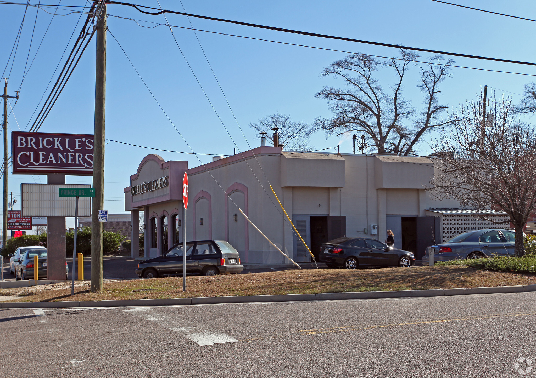
[[81, 284], [76, 286], [74, 297], [71, 297], [70, 287], [65, 286], [57, 289], [50, 287], [48, 290], [2, 289], [0, 295], [25, 296], [13, 301], [34, 302], [450, 289], [528, 284], [536, 284], [536, 275], [458, 266], [422, 266], [409, 269], [310, 269], [215, 277], [192, 276], [187, 277], [185, 293], [182, 292], [182, 278], [169, 277], [106, 282], [105, 289], [100, 293], [91, 293], [88, 284]]

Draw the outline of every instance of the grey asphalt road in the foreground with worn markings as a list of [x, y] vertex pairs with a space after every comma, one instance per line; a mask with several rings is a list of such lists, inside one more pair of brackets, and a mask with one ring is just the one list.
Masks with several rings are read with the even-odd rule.
[[523, 357], [519, 368], [536, 365], [535, 299], [536, 293], [508, 293], [2, 309], [0, 371], [80, 378], [514, 377], [516, 360]]

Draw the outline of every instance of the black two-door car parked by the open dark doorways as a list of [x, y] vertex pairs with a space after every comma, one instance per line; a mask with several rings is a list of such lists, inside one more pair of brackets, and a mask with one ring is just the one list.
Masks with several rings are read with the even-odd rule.
[[408, 268], [415, 263], [415, 256], [412, 252], [391, 248], [377, 239], [344, 237], [322, 244], [318, 260], [330, 268], [340, 266], [346, 269], [370, 266]]

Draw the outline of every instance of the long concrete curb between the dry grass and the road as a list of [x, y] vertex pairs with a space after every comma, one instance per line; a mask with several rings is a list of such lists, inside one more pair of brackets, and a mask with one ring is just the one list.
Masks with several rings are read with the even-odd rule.
[[274, 296], [236, 296], [206, 298], [84, 300], [64, 302], [0, 303], [0, 308], [72, 308], [72, 307], [129, 307], [129, 306], [177, 306], [225, 303], [269, 303], [311, 300], [418, 298], [459, 296], [466, 294], [521, 293], [536, 291], [535, 285], [492, 286], [490, 288], [430, 289], [398, 291], [360, 291], [346, 293], [281, 294]]

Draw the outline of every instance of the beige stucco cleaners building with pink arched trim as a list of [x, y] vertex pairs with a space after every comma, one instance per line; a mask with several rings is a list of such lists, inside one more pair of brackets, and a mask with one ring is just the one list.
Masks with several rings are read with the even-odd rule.
[[[242, 156], [243, 155], [243, 156]], [[189, 207], [183, 218], [182, 178], [189, 177]], [[250, 226], [238, 210], [297, 262], [310, 261], [270, 190], [274, 188], [312, 252], [343, 235], [385, 240], [422, 255], [442, 237], [440, 214], [431, 208], [459, 209], [453, 201], [430, 199], [425, 185], [434, 160], [390, 154], [354, 155], [282, 152], [258, 147], [195, 168], [147, 155], [124, 190], [125, 210], [138, 229], [145, 214], [145, 255], [157, 256], [177, 241], [228, 240], [243, 263], [278, 264], [286, 259]], [[427, 213], [428, 210], [428, 213]], [[135, 240], [133, 251], [137, 251]]]

